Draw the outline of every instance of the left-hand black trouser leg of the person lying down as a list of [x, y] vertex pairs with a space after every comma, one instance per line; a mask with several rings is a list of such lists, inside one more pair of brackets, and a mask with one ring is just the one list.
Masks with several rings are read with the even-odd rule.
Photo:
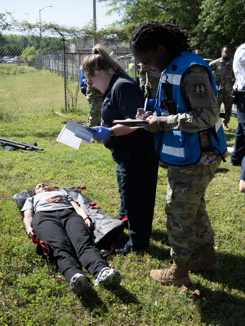
[[33, 230], [40, 240], [51, 246], [61, 273], [64, 275], [65, 280], [70, 283], [75, 274], [85, 274], [74, 254], [73, 246], [60, 221], [60, 216], [61, 211], [36, 213], [33, 217]]

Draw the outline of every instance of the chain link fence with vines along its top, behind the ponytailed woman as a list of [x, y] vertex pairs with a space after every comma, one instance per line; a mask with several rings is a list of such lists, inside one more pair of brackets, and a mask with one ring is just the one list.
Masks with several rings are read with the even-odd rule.
[[[93, 40], [41, 27], [0, 31], [0, 119], [88, 110], [79, 66], [92, 53]], [[129, 48], [116, 40], [100, 43], [126, 69]]]

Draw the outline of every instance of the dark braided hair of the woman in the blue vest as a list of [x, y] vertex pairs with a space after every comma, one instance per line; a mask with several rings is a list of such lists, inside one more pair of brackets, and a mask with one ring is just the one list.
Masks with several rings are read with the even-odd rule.
[[188, 50], [187, 31], [172, 24], [143, 22], [133, 31], [129, 48], [132, 52], [155, 51], [159, 45], [166, 48], [168, 61], [172, 61], [182, 51]]

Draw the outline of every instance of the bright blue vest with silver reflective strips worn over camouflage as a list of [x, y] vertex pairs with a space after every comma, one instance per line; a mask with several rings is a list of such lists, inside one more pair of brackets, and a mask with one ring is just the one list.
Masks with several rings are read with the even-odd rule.
[[[172, 93], [172, 98], [170, 100], [174, 102], [170, 103], [170, 106], [174, 103], [174, 114], [189, 112], [186, 108], [184, 98], [180, 94], [180, 80], [184, 71], [195, 64], [208, 68], [209, 81], [214, 94], [217, 96], [215, 81], [209, 65], [194, 52], [190, 53], [189, 51], [184, 51], [181, 52], [180, 56], [177, 56], [162, 73], [156, 96], [155, 108], [157, 116], [164, 116], [164, 109], [161, 108], [163, 107], [161, 106], [161, 101], [163, 101], [162, 86], [165, 86], [166, 83], [168, 89], [170, 89], [170, 93]], [[199, 91], [201, 95], [203, 95], [205, 91], [207, 92], [205, 88], [200, 90], [193, 89], [193, 92], [195, 91]], [[167, 110], [165, 111], [165, 116], [168, 115]], [[171, 109], [169, 114], [173, 114], [171, 113]], [[209, 152], [210, 150], [222, 157], [222, 154], [226, 151], [227, 144], [221, 119], [219, 118], [215, 126], [206, 130], [208, 131], [211, 147], [208, 146], [205, 148], [201, 148], [200, 141], [200, 132], [204, 130], [194, 133], [174, 130], [156, 132], [155, 148], [160, 161], [177, 166], [192, 165], [200, 160], [202, 152]]]

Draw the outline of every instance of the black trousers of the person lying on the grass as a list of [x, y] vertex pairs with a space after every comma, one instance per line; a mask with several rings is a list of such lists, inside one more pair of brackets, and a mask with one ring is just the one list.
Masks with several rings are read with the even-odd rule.
[[75, 274], [85, 275], [80, 264], [95, 279], [102, 268], [108, 267], [99, 249], [94, 246], [84, 219], [73, 209], [36, 213], [33, 230], [40, 240], [51, 246], [58, 267], [69, 283]]

